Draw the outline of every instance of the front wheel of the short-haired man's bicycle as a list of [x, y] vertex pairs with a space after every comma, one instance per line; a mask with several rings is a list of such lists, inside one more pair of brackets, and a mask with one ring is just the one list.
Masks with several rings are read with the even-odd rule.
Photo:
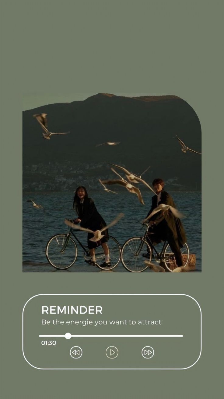
[[143, 272], [148, 267], [144, 263], [146, 258], [142, 257], [145, 253], [149, 253], [147, 260], [150, 262], [152, 251], [148, 243], [139, 237], [130, 238], [121, 248], [121, 262], [129, 272]]

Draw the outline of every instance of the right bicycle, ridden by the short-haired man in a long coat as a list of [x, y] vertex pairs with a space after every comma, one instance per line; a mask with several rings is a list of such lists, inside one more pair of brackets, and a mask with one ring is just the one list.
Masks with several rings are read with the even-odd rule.
[[[144, 270], [147, 269], [148, 265], [144, 263], [144, 257], [142, 257], [143, 254], [146, 254], [146, 259], [151, 262], [152, 260], [152, 250], [148, 242], [146, 241], [146, 237], [148, 241], [150, 241], [150, 244], [152, 245], [153, 251], [155, 251], [155, 256], [154, 260], [157, 263], [161, 263], [162, 265], [165, 265], [168, 271], [172, 272], [173, 269], [177, 267], [176, 261], [175, 261], [175, 256], [173, 251], [171, 251], [171, 248], [168, 244], [167, 241], [164, 241], [162, 245], [162, 249], [160, 252], [156, 250], [154, 247], [152, 241], [150, 240], [150, 235], [153, 235], [155, 233], [149, 232], [148, 229], [150, 228], [150, 225], [147, 223], [144, 223], [144, 225], [147, 227], [146, 232], [144, 233], [143, 237], [132, 237], [129, 238], [122, 246], [121, 248], [121, 262], [125, 269], [127, 269], [129, 272], [134, 272], [134, 273], [139, 273], [143, 272]], [[181, 255], [184, 263], [184, 267], [187, 265], [187, 262], [189, 260], [189, 247], [187, 243], [183, 245], [183, 247], [180, 249], [181, 250]]]

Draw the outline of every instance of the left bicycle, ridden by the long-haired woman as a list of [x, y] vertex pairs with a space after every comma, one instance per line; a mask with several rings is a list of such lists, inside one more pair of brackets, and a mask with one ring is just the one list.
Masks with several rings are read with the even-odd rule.
[[[89, 249], [82, 245], [73, 231], [74, 229], [71, 227], [69, 232], [66, 234], [53, 235], [46, 245], [45, 255], [50, 265], [55, 267], [55, 269], [68, 269], [74, 265], [78, 255], [78, 247], [74, 239], [84, 250], [84, 259], [90, 260]], [[71, 237], [71, 235], [74, 237], [74, 239]], [[121, 259], [121, 247], [119, 242], [111, 235], [109, 235], [109, 241], [109, 261], [111, 266], [102, 267], [100, 265], [101, 261], [103, 261], [105, 257], [105, 254], [101, 246], [95, 248], [96, 266], [101, 270], [114, 269]]]

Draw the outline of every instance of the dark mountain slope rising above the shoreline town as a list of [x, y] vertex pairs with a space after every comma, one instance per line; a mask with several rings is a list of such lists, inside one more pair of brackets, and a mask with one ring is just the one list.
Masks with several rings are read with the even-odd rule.
[[[49, 130], [66, 136], [42, 138], [33, 114], [46, 113]], [[147, 181], [161, 177], [177, 188], [201, 187], [201, 155], [183, 154], [175, 135], [201, 152], [199, 119], [183, 99], [174, 95], [123, 97], [98, 93], [84, 101], [56, 103], [23, 111], [23, 165], [40, 163], [119, 163], [140, 174], [149, 165]], [[107, 141], [117, 146], [95, 147]], [[55, 174], [58, 171], [55, 172]], [[54, 172], [51, 170], [51, 178]], [[23, 180], [26, 181], [27, 173]], [[100, 177], [100, 176], [99, 176]], [[102, 176], [103, 178], [107, 176]], [[145, 176], [146, 178], [146, 176]], [[29, 177], [30, 179], [30, 177]]]

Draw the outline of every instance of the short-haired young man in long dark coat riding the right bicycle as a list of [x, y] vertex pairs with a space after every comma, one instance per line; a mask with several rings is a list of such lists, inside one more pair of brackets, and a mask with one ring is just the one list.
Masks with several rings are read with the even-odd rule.
[[[175, 208], [173, 198], [164, 191], [164, 181], [162, 179], [154, 179], [152, 186], [157, 195], [152, 197], [152, 207], [147, 216], [149, 216], [160, 203], [171, 205]], [[152, 240], [154, 243], [165, 240], [168, 241], [171, 251], [174, 253], [177, 266], [183, 266], [180, 248], [185, 244], [186, 236], [180, 219], [175, 217], [168, 209], [167, 211], [155, 213], [150, 219], [149, 225], [153, 227], [155, 233], [155, 235], [150, 235], [150, 239], [153, 237]], [[150, 242], [148, 243], [150, 245]]]

